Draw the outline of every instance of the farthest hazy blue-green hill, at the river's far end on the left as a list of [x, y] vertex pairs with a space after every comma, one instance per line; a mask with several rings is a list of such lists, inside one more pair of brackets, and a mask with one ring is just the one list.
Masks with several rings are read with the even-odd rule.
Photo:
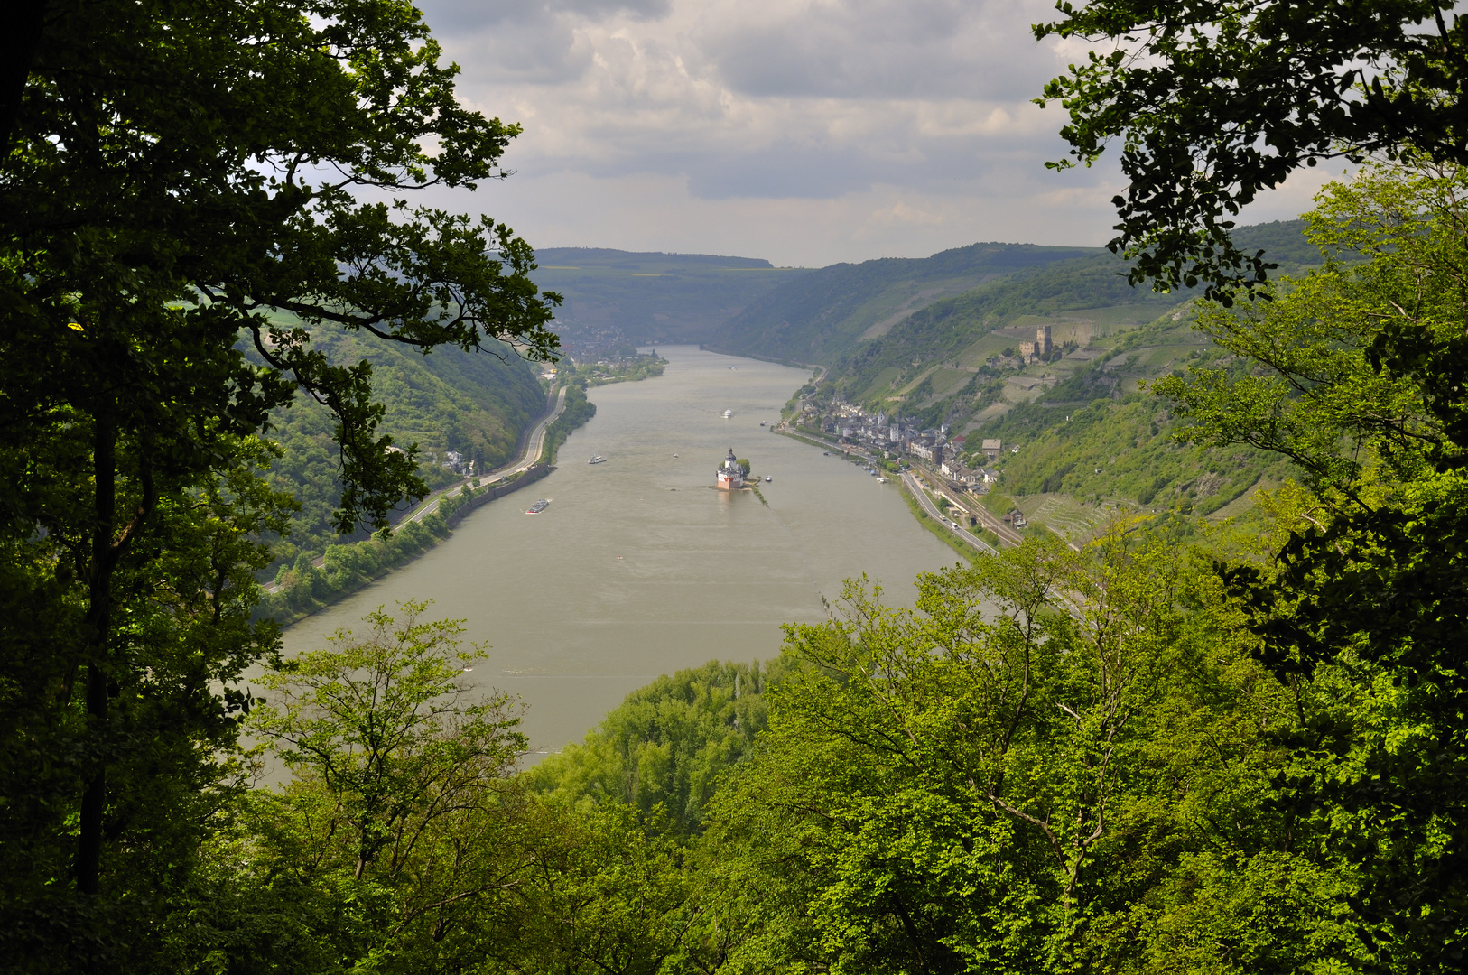
[[804, 276], [750, 257], [552, 247], [536, 253], [536, 283], [565, 297], [564, 348], [583, 357], [624, 342], [702, 342], [772, 288]]

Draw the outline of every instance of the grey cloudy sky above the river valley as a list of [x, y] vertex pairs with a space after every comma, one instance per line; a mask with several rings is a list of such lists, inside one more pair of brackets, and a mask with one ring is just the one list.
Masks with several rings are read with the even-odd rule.
[[[461, 97], [524, 125], [515, 175], [439, 206], [534, 247], [822, 266], [1110, 236], [1110, 166], [1055, 173], [1082, 56], [1048, 0], [420, 0]], [[1257, 204], [1305, 209], [1318, 175]]]

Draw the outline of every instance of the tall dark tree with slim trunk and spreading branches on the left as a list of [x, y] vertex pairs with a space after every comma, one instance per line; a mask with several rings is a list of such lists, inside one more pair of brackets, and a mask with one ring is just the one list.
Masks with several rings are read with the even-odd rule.
[[[119, 587], [169, 567], [167, 512], [248, 465], [270, 411], [304, 389], [336, 420], [338, 529], [385, 527], [424, 490], [413, 449], [377, 436], [368, 364], [327, 361], [311, 330], [552, 357], [556, 298], [537, 295], [531, 251], [504, 225], [352, 195], [499, 178], [518, 132], [457, 104], [457, 68], [439, 63], [411, 6], [54, 0], [44, 12], [0, 159], [0, 539], [12, 602], [26, 608], [6, 624], [3, 680], [28, 689], [6, 797], [34, 793], [41, 772], [21, 769], [70, 778], [26, 806], [53, 837], [75, 834], [69, 868], [38, 869], [54, 872], [48, 897], [69, 872], [76, 909], [100, 918], [120, 903], [104, 849], [119, 849], [109, 837], [126, 783], [109, 769], [148, 747], [116, 727], [123, 689], [160, 703], [201, 689], [179, 721], [223, 728], [241, 705], [213, 675], [226, 661], [233, 674], [242, 646], [272, 649], [264, 631], [189, 643], [156, 590]], [[222, 605], [252, 599], [248, 574], [217, 586]], [[147, 648], [125, 628], [134, 614], [156, 621]], [[189, 646], [195, 665], [153, 668], [154, 643]], [[192, 756], [175, 771], [203, 787], [220, 766], [208, 749]]]

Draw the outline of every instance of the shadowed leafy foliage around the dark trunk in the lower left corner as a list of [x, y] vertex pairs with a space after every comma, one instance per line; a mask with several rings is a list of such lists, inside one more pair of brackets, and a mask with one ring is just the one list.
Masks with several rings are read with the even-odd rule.
[[[47, 458], [44, 446], [31, 455]], [[235, 684], [277, 643], [272, 623], [251, 618], [252, 574], [270, 561], [258, 537], [285, 527], [289, 499], [260, 480], [267, 451], [232, 452], [219, 474], [154, 479], [153, 530], [126, 536], [107, 579], [109, 649], [126, 667], [78, 673], [95, 618], [85, 576], [78, 584], [87, 526], [0, 542], [0, 950], [16, 971], [150, 969], [200, 843], [247, 783], [232, 752], [250, 697]], [[65, 470], [31, 470], [18, 507], [60, 507], [73, 490]], [[106, 796], [104, 834], [78, 830], [78, 780], [87, 800]], [[110, 850], [106, 899], [66, 882], [79, 840], [94, 865]]]

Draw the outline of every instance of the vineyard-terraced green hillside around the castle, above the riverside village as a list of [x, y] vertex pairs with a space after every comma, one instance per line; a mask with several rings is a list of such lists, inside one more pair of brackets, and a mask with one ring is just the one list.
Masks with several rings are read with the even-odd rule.
[[[1299, 220], [1268, 223], [1238, 239], [1264, 248], [1276, 275], [1295, 275], [1321, 260], [1302, 231]], [[947, 424], [969, 467], [986, 464], [982, 439], [1003, 441], [989, 507], [1019, 507], [1067, 536], [1124, 511], [1235, 514], [1251, 488], [1290, 468], [1246, 448], [1220, 454], [1173, 441], [1170, 404], [1148, 382], [1223, 354], [1192, 326], [1195, 292], [1135, 289], [1124, 267], [1091, 253], [935, 301], [828, 360], [818, 402], [860, 404], [920, 429]], [[1020, 342], [1044, 326], [1053, 355], [1020, 361]]]

